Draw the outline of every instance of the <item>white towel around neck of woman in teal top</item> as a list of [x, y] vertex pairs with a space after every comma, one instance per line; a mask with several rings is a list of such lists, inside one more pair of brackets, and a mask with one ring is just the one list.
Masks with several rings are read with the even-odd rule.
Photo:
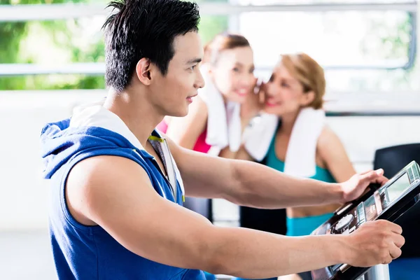
[[[276, 133], [278, 121], [273, 115], [263, 115], [249, 132], [245, 148], [255, 160], [262, 160]], [[325, 112], [321, 109], [302, 109], [290, 135], [284, 162], [284, 173], [310, 177], [316, 174], [316, 145], [325, 125]]]

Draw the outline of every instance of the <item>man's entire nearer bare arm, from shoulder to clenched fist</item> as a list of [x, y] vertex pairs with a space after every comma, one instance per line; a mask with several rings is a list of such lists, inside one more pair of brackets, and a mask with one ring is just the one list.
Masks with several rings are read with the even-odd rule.
[[[347, 237], [283, 237], [244, 228], [218, 228], [160, 197], [137, 163], [113, 156], [78, 163], [69, 174], [66, 195], [78, 221], [100, 225], [137, 255], [214, 274], [268, 278], [338, 262], [370, 266], [388, 260], [390, 251], [398, 256], [395, 244], [402, 238], [392, 233], [398, 226], [386, 221], [370, 232], [365, 230], [364, 235], [362, 230]], [[357, 258], [362, 252], [366, 256]]]

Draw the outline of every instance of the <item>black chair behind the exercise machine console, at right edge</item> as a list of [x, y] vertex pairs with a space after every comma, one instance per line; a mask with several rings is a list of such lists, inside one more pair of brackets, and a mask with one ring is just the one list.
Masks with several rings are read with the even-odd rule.
[[[420, 164], [420, 144], [406, 144], [381, 148], [374, 154], [374, 169], [384, 169], [384, 176], [391, 178], [415, 160]], [[405, 245], [400, 258], [420, 258], [420, 204], [395, 221], [402, 227]]]

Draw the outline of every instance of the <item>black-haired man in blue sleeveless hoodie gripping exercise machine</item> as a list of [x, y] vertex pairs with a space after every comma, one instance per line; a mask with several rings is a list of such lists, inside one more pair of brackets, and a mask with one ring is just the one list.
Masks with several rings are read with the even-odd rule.
[[296, 179], [176, 146], [154, 127], [164, 116], [186, 116], [204, 86], [197, 5], [127, 0], [111, 6], [118, 13], [105, 24], [106, 102], [46, 125], [41, 136], [59, 279], [202, 280], [202, 270], [267, 278], [398, 258], [401, 228], [387, 221], [347, 236], [284, 237], [218, 228], [181, 207], [184, 187], [194, 197], [274, 209], [346, 202], [386, 179], [381, 171], [342, 184]]

